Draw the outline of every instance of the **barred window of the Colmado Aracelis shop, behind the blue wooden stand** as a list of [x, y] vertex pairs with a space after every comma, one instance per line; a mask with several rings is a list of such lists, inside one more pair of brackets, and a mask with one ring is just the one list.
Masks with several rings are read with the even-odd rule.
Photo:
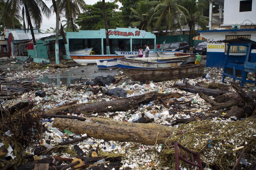
[[[251, 39], [251, 35], [236, 35], [236, 36], [226, 36], [225, 40], [233, 40], [233, 39], [237, 39], [240, 37]], [[225, 52], [227, 52], [227, 49], [228, 49], [228, 45], [227, 45], [227, 43], [225, 43]], [[246, 53], [246, 50], [247, 50], [246, 46], [230, 46], [229, 52]]]

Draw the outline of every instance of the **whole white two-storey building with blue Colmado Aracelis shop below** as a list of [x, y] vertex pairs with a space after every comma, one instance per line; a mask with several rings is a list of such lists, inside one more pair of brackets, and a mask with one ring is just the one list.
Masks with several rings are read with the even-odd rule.
[[[199, 31], [200, 36], [207, 39], [207, 67], [224, 67], [227, 52], [227, 44], [220, 40], [231, 40], [245, 37], [256, 41], [256, 0], [210, 0], [224, 6], [225, 15], [220, 28], [211, 26], [211, 8], [209, 10], [209, 31]], [[220, 10], [222, 11], [222, 10]], [[222, 16], [220, 14], [220, 16]], [[232, 29], [233, 28], [233, 29]], [[213, 30], [214, 29], [214, 30]], [[234, 46], [230, 50], [228, 60], [242, 62], [245, 55], [245, 47]], [[253, 62], [256, 62], [256, 50], [251, 53]]]

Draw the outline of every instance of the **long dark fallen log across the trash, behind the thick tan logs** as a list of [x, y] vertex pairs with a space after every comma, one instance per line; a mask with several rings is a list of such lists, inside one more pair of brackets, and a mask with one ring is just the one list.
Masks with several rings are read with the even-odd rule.
[[45, 112], [46, 115], [55, 115], [57, 112], [79, 112], [79, 113], [106, 113], [106, 112], [116, 112], [116, 111], [128, 111], [131, 109], [138, 108], [141, 104], [147, 104], [151, 101], [168, 98], [180, 98], [181, 94], [179, 93], [167, 93], [162, 94], [158, 92], [146, 93], [143, 95], [138, 95], [134, 97], [127, 97], [123, 99], [116, 99], [111, 101], [102, 101], [96, 103], [88, 103], [88, 104], [74, 104], [70, 106], [60, 106]]

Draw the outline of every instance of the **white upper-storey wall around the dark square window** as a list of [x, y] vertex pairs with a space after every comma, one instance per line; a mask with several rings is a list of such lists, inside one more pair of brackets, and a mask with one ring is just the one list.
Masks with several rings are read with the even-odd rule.
[[[224, 22], [223, 26], [229, 25], [232, 23], [240, 23], [243, 25], [251, 25], [254, 23], [256, 25], [256, 1], [252, 1], [252, 11], [239, 12], [240, 9], [240, 0], [225, 0], [224, 1]], [[250, 20], [250, 21], [245, 21]]]

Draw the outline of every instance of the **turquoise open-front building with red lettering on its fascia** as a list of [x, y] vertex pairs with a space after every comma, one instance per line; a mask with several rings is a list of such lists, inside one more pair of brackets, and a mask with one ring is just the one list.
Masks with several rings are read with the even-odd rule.
[[[138, 50], [140, 46], [144, 48], [148, 44], [150, 50], [156, 50], [156, 36], [150, 32], [136, 28], [116, 28], [109, 29], [109, 46], [110, 53], [115, 51], [132, 51], [133, 48]], [[79, 30], [79, 32], [66, 32], [66, 38], [70, 51], [93, 48], [95, 54], [106, 54], [106, 33], [105, 29], [100, 30]], [[47, 37], [45, 41], [54, 42], [55, 37]], [[65, 49], [62, 36], [59, 36], [59, 48]], [[48, 49], [49, 50], [49, 49]], [[64, 51], [63, 51], [64, 52]], [[63, 53], [63, 59], [71, 59]]]

